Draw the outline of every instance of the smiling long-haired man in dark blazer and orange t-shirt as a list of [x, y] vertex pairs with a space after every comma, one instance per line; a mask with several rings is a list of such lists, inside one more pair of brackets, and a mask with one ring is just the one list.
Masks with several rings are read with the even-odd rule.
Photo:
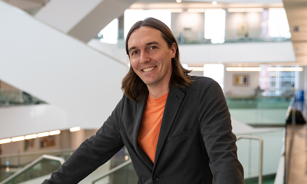
[[124, 95], [95, 136], [44, 184], [78, 183], [126, 146], [138, 184], [243, 184], [223, 92], [192, 77], [161, 21], [136, 22], [126, 38], [131, 67]]

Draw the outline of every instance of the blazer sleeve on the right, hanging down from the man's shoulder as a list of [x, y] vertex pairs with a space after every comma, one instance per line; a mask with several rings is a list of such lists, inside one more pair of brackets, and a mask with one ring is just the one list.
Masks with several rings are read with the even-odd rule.
[[210, 79], [199, 99], [199, 121], [209, 156], [213, 184], [243, 184], [243, 167], [237, 158], [236, 136], [220, 85]]

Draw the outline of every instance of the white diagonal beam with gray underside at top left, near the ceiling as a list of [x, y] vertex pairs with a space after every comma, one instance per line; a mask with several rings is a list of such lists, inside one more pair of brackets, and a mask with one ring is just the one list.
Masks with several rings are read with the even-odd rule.
[[95, 37], [136, 0], [52, 0], [35, 17], [84, 42]]

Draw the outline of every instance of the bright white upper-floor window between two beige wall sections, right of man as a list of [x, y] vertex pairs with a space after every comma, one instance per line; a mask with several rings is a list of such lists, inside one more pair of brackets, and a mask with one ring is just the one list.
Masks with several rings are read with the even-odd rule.
[[225, 10], [205, 10], [205, 39], [212, 44], [225, 42]]

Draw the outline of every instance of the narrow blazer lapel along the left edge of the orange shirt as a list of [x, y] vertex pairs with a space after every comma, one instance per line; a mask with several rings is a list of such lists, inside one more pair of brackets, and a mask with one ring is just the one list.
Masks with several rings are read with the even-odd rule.
[[142, 161], [146, 164], [147, 166], [146, 170], [152, 173], [153, 163], [151, 162], [150, 158], [146, 155], [146, 153], [138, 147], [138, 134], [141, 129], [143, 113], [146, 107], [146, 100], [147, 100], [147, 95], [144, 95], [141, 102], [137, 103], [136, 119], [135, 119], [134, 128], [133, 128], [133, 145], [140, 159], [142, 159]]

